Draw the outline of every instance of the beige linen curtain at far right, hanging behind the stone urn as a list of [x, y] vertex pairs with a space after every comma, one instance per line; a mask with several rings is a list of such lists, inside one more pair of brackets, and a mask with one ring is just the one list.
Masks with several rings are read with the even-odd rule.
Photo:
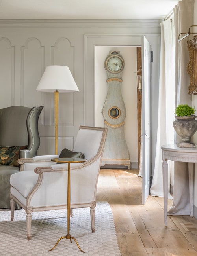
[[[187, 40], [192, 36], [178, 42], [178, 35], [188, 32], [193, 25], [193, 9], [194, 0], [179, 1], [174, 8], [175, 17], [175, 91], [176, 105], [191, 105], [191, 95], [188, 95], [188, 85], [190, 84], [190, 76], [186, 71], [189, 62], [189, 51], [187, 48]], [[176, 136], [176, 141], [180, 141]], [[188, 181], [188, 164], [175, 162], [174, 165], [174, 184], [173, 184], [173, 204], [168, 211], [169, 215], [190, 215], [189, 200], [189, 181]]]

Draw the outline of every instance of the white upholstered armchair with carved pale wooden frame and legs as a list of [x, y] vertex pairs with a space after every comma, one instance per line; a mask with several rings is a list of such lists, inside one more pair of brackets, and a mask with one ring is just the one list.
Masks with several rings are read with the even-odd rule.
[[[71, 163], [71, 209], [90, 207], [95, 231], [96, 190], [107, 129], [80, 126], [73, 152], [84, 153], [84, 163]], [[50, 161], [59, 155], [19, 159], [19, 173], [11, 175], [11, 220], [15, 202], [26, 211], [27, 239], [31, 238], [32, 212], [67, 209], [67, 163]]]

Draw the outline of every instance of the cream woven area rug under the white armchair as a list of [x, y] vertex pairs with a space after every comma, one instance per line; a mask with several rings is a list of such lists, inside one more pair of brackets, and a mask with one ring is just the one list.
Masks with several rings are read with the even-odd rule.
[[0, 256], [121, 256], [110, 205], [97, 202], [95, 215], [95, 233], [91, 232], [89, 208], [73, 209], [70, 218], [70, 234], [85, 254], [69, 239], [61, 239], [48, 252], [67, 234], [67, 210], [33, 212], [32, 239], [28, 241], [25, 211], [15, 210], [11, 222], [10, 210], [0, 209]]

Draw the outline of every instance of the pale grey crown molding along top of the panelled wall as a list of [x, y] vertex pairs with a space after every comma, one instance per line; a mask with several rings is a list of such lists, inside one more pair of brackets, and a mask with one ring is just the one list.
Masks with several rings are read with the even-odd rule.
[[160, 22], [158, 19], [0, 19], [0, 27], [151, 27], [160, 28]]

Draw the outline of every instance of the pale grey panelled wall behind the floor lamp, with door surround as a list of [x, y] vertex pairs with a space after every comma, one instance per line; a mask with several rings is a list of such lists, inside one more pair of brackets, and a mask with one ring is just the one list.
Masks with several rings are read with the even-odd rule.
[[95, 46], [140, 46], [143, 35], [154, 51], [154, 165], [160, 48], [157, 20], [0, 20], [0, 108], [44, 105], [39, 119], [39, 155], [54, 154], [54, 96], [35, 89], [46, 66], [69, 66], [80, 92], [60, 93], [58, 151], [72, 149], [79, 125], [95, 125]]

